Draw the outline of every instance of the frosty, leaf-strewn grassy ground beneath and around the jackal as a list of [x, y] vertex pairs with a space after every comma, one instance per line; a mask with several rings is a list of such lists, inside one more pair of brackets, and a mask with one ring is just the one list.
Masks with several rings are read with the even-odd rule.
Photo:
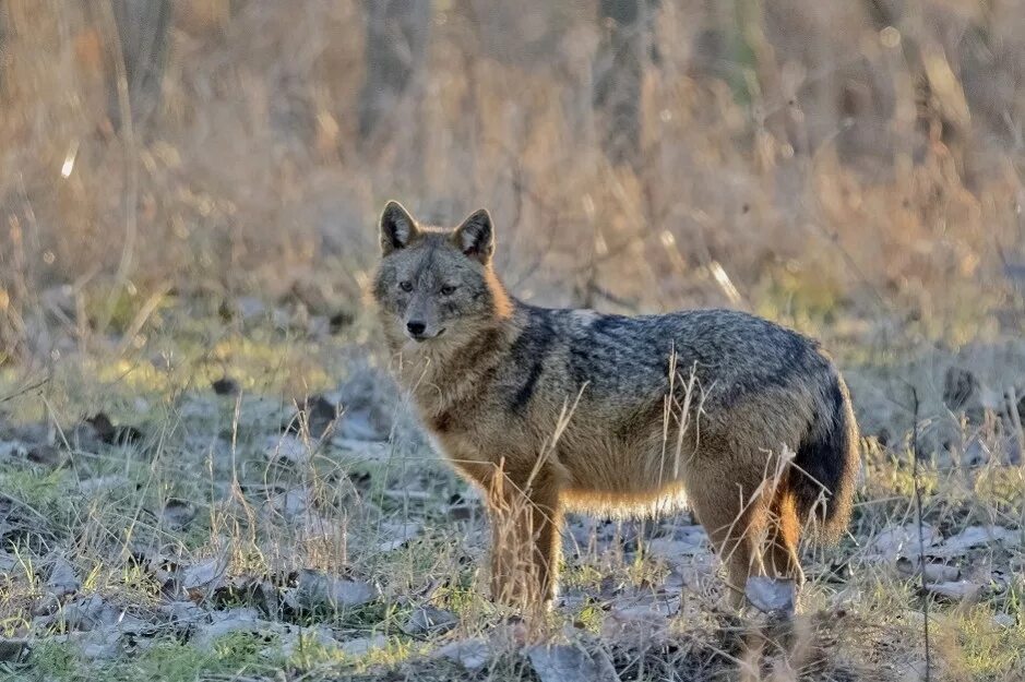
[[[132, 361], [58, 364], [38, 386], [4, 375], [2, 674], [907, 680], [927, 603], [933, 679], [1025, 674], [1025, 470], [999, 410], [975, 411], [982, 388], [926, 412], [919, 379], [925, 593], [908, 439], [879, 410], [897, 435], [867, 440], [850, 534], [808, 549], [804, 618], [723, 610], [684, 513], [574, 517], [562, 603], [528, 629], [484, 597], [480, 503], [376, 367], [368, 321], [333, 334], [242, 303], [163, 308], [159, 350]], [[862, 395], [885, 385], [849, 373]]]

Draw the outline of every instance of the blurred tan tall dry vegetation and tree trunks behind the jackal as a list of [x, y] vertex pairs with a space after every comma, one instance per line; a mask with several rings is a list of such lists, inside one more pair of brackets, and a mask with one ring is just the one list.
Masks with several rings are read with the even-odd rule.
[[358, 315], [392, 198], [540, 303], [1020, 336], [1023, 80], [1021, 0], [0, 0], [0, 362]]

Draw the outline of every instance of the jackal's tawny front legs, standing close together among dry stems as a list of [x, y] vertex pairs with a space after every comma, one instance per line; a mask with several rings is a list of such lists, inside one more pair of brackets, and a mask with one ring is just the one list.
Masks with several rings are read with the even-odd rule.
[[520, 609], [547, 608], [556, 595], [562, 510], [544, 471], [517, 486], [505, 475], [490, 491], [491, 598]]

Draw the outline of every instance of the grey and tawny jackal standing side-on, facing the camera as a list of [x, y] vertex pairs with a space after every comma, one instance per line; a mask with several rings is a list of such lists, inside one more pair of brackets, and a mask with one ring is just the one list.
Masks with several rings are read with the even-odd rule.
[[549, 606], [568, 510], [686, 503], [727, 571], [796, 595], [798, 539], [830, 541], [859, 467], [847, 387], [804, 336], [730, 310], [622, 316], [521, 302], [491, 264], [485, 210], [455, 229], [396, 202], [373, 296], [400, 384], [484, 491], [492, 598]]

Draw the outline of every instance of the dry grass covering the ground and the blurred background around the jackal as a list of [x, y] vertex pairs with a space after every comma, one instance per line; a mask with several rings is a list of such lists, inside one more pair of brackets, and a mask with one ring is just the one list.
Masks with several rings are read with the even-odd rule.
[[[914, 386], [927, 528], [1011, 534], [943, 558], [980, 587], [930, 597], [933, 679], [1025, 675], [1025, 14], [663, 5], [631, 168], [599, 149], [589, 3], [436, 2], [419, 95], [360, 141], [355, 2], [175, 3], [160, 104], [129, 131], [108, 3], [0, 0], [0, 634], [31, 647], [0, 646], [0, 674], [537, 679], [534, 633], [481, 597], [479, 502], [377, 383], [363, 291], [398, 198], [439, 222], [491, 210], [523, 298], [746, 308], [821, 337], [850, 380], [866, 479], [849, 537], [809, 549], [794, 632], [718, 610], [683, 514], [574, 519], [549, 639], [621, 680], [915, 679]], [[973, 378], [961, 405], [951, 368]], [[224, 375], [240, 398], [211, 392]], [[335, 435], [283, 434], [341, 381]], [[80, 423], [98, 410], [142, 440], [98, 442]], [[311, 606], [310, 575], [372, 598]], [[69, 623], [94, 595], [116, 642]], [[412, 627], [428, 608], [454, 630]], [[450, 642], [481, 667], [434, 656]]]

